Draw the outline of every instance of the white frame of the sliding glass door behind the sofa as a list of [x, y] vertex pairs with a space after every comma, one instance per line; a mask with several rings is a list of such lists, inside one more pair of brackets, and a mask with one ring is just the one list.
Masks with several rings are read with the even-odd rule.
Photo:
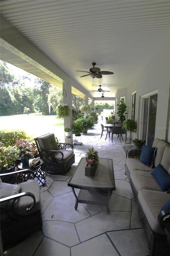
[[[139, 122], [139, 137], [140, 139], [142, 138], [142, 133], [143, 133], [143, 116], [144, 116], [144, 101], [145, 98], [149, 98], [149, 107], [150, 107], [150, 96], [158, 94], [158, 89], [154, 90], [152, 92], [148, 92], [147, 94], [144, 94], [140, 96], [141, 102], [140, 102], [140, 122]], [[148, 109], [149, 111], [149, 109]], [[148, 113], [148, 122], [147, 122], [147, 135], [148, 135], [148, 123], [149, 123], [149, 113]], [[147, 136], [146, 136], [147, 137]]]

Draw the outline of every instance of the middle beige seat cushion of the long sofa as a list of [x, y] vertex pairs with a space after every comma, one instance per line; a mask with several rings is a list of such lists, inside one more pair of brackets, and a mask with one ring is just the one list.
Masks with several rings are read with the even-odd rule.
[[150, 172], [132, 170], [130, 177], [137, 192], [143, 188], [148, 190], [161, 191], [158, 182]]

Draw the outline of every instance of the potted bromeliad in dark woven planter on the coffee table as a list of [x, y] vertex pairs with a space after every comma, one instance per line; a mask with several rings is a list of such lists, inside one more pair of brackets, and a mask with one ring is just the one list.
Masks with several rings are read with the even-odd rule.
[[87, 165], [85, 166], [85, 176], [94, 176], [99, 162], [98, 151], [93, 147], [89, 148], [85, 156], [87, 162]]

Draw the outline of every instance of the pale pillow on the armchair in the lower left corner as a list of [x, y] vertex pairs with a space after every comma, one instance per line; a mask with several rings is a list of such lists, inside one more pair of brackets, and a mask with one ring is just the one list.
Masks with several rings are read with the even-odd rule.
[[[20, 185], [9, 184], [5, 182], [0, 183], [0, 198], [13, 196], [21, 191]], [[2, 203], [1, 206], [5, 206], [6, 202]], [[15, 207], [17, 207], [17, 201], [15, 202]]]

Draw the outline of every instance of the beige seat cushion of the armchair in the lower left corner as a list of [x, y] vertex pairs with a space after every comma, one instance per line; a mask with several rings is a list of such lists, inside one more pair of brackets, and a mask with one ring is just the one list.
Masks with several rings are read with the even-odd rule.
[[21, 197], [18, 199], [18, 206], [15, 209], [15, 212], [19, 215], [29, 215], [31, 213], [34, 213], [38, 210], [40, 210], [41, 207], [41, 200], [40, 200], [40, 187], [37, 180], [30, 180], [23, 183], [19, 183], [21, 186], [20, 193], [23, 192], [30, 192], [33, 193], [35, 196], [35, 206], [32, 210], [29, 212], [26, 212], [26, 208], [30, 206], [33, 203], [33, 199], [31, 197]]

